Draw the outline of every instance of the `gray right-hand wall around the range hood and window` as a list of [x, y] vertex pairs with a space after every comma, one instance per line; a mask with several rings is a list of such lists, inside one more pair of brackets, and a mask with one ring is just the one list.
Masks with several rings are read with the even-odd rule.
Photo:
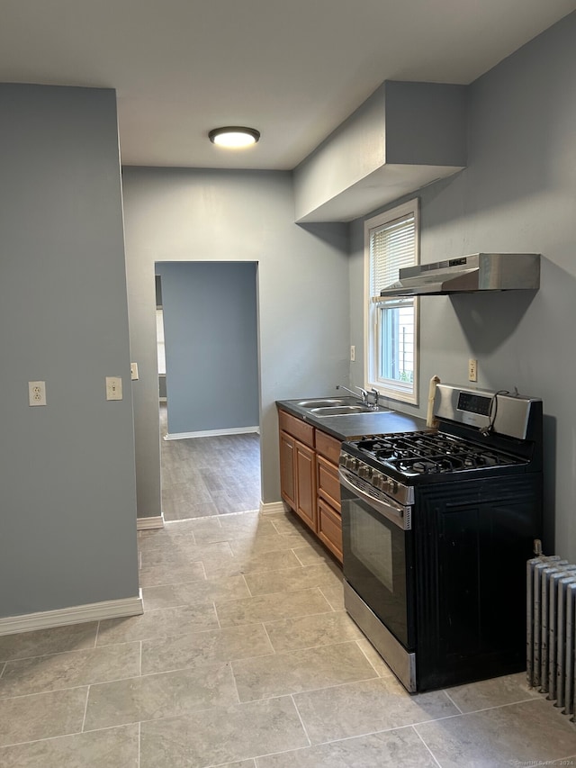
[[[576, 558], [572, 356], [576, 328], [576, 14], [476, 81], [469, 166], [422, 189], [422, 262], [478, 251], [543, 254], [539, 292], [420, 299], [420, 411], [428, 380], [518, 387], [545, 406], [545, 549]], [[362, 348], [362, 221], [351, 231], [351, 343]], [[355, 384], [363, 361], [351, 365]], [[555, 510], [555, 516], [554, 516]]]

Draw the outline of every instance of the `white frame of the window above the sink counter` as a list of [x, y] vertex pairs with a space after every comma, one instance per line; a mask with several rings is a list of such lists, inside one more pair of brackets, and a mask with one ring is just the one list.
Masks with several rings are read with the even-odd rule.
[[[406, 216], [414, 216], [415, 241], [414, 241], [414, 264], [419, 264], [419, 200], [415, 198], [408, 203], [402, 203], [395, 208], [378, 214], [371, 219], [365, 220], [365, 288], [364, 288], [364, 306], [365, 306], [365, 389], [375, 389], [383, 397], [401, 402], [410, 402], [418, 405], [419, 402], [419, 299], [418, 297], [380, 297], [371, 294], [371, 253], [370, 245], [372, 232]], [[383, 287], [383, 286], [381, 286]], [[413, 380], [411, 383], [402, 383], [395, 379], [385, 379], [378, 375], [380, 370], [379, 350], [382, 348], [381, 332], [379, 319], [383, 313], [379, 309], [398, 305], [413, 306], [414, 310], [414, 361], [413, 361]]]

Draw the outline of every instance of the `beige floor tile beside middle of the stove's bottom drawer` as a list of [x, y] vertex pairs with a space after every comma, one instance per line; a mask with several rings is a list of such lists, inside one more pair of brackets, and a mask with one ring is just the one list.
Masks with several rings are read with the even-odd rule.
[[296, 619], [266, 621], [265, 626], [277, 653], [296, 648], [346, 643], [364, 637], [344, 610], [335, 611], [329, 616], [320, 613]]

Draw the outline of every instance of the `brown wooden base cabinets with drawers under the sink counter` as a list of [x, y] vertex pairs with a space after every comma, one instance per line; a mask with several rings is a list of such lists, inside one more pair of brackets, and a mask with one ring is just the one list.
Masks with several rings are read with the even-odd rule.
[[341, 443], [286, 411], [278, 411], [278, 422], [282, 498], [341, 563]]

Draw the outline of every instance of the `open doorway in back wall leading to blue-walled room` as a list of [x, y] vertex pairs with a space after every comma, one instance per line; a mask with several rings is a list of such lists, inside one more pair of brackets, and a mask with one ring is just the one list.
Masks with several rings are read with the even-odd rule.
[[257, 263], [155, 271], [164, 519], [257, 510]]

